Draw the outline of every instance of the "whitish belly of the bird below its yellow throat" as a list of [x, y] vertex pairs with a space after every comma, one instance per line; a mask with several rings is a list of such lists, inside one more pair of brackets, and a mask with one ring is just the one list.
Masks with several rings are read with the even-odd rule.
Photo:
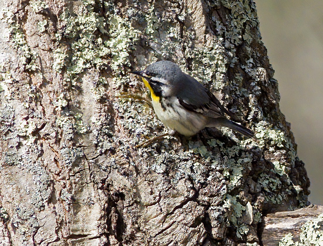
[[198, 113], [191, 112], [182, 107], [178, 99], [173, 97], [172, 107], [166, 110], [160, 102], [152, 102], [155, 113], [165, 126], [184, 136], [193, 136], [206, 126], [206, 118]]

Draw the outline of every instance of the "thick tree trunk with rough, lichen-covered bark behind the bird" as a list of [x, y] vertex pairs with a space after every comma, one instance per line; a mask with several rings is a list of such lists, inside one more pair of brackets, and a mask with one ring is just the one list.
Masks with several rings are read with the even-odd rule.
[[[259, 245], [309, 181], [252, 1], [0, 1], [1, 245]], [[168, 59], [255, 139], [167, 137], [127, 71]]]

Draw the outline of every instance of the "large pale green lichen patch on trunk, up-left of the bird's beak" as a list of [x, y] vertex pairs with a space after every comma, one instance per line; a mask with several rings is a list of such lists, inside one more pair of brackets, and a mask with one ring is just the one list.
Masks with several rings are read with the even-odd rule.
[[[66, 23], [66, 28], [58, 32], [56, 37], [58, 41], [63, 35], [70, 39], [72, 52], [68, 58], [66, 49], [55, 50], [53, 68], [59, 73], [65, 69], [65, 80], [74, 84], [84, 70], [109, 64], [113, 73], [112, 80], [118, 83], [124, 77], [120, 74], [123, 67], [130, 66], [130, 46], [138, 39], [139, 32], [131, 27], [129, 21], [114, 13], [109, 14], [107, 19], [100, 16], [94, 11], [94, 1], [82, 0], [81, 3], [78, 13], [70, 13], [66, 8], [60, 16]], [[103, 3], [113, 12], [113, 4]], [[106, 27], [106, 23], [109, 23], [109, 28]], [[95, 33], [98, 30], [101, 37], [97, 37]], [[111, 59], [108, 62], [109, 56]]]

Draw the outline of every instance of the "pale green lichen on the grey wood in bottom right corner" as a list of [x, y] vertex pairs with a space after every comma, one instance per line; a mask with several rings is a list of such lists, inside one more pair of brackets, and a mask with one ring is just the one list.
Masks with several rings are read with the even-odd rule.
[[286, 234], [279, 242], [279, 246], [322, 246], [323, 245], [323, 214], [312, 219], [301, 227], [300, 241], [294, 242], [292, 233]]

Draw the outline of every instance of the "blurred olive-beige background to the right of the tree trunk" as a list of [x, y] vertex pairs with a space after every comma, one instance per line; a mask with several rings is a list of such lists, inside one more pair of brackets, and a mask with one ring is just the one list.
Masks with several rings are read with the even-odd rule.
[[254, 1], [280, 110], [311, 181], [309, 201], [323, 205], [323, 1]]

